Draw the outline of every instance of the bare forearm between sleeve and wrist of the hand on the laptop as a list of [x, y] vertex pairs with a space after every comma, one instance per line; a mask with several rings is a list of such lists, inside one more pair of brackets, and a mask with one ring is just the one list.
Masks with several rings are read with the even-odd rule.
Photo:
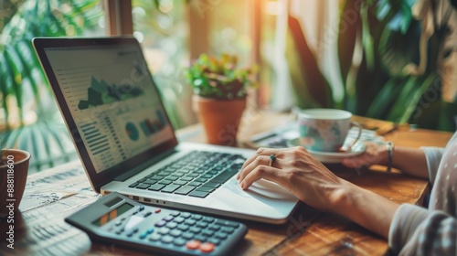
[[388, 229], [399, 205], [367, 189], [343, 181], [332, 197], [335, 213], [388, 238]]

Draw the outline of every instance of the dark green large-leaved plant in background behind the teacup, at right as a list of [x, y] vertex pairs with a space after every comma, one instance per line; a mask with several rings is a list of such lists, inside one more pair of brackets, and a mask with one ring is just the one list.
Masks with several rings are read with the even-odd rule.
[[[420, 1], [420, 0], [418, 0]], [[447, 1], [447, 0], [443, 0]], [[438, 0], [423, 0], [432, 17], [430, 37], [424, 23], [412, 14], [415, 0], [346, 0], [340, 11], [337, 48], [343, 101], [336, 107], [398, 123], [452, 130], [457, 108], [441, 100], [441, 68], [453, 48], [445, 48], [451, 34], [454, 8], [438, 8]], [[441, 13], [443, 12], [443, 13]], [[438, 17], [441, 17], [439, 19]], [[355, 56], [359, 62], [354, 63]], [[320, 72], [304, 74], [313, 80]], [[320, 79], [322, 80], [322, 79]], [[325, 88], [325, 83], [305, 87]], [[433, 94], [433, 95], [431, 95]]]

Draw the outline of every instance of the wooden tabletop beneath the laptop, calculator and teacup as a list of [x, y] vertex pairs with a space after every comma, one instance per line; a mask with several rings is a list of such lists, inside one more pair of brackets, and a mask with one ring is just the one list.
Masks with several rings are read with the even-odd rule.
[[[239, 146], [256, 133], [288, 123], [290, 114], [274, 112], [246, 112], [240, 128]], [[358, 119], [365, 127], [377, 129], [396, 145], [419, 147], [443, 146], [452, 133], [399, 128], [390, 131], [392, 123]], [[201, 127], [195, 125], [177, 133], [182, 141], [204, 143]], [[342, 165], [328, 165], [336, 175], [360, 187], [388, 197], [398, 203], [421, 205], [430, 186], [427, 180], [405, 176], [398, 171], [387, 173], [385, 168], [373, 166], [357, 175]], [[91, 243], [87, 235], [72, 228], [63, 219], [83, 206], [95, 201], [95, 194], [79, 161], [60, 165], [28, 177], [20, 212], [15, 214], [15, 249], [6, 247], [5, 219], [0, 223], [0, 255], [142, 255], [115, 245]], [[367, 206], [374, 207], [377, 206]], [[301, 204], [292, 217], [282, 225], [266, 225], [244, 221], [249, 232], [235, 249], [237, 255], [384, 255], [388, 243], [376, 234], [355, 223], [330, 213], [323, 213]]]

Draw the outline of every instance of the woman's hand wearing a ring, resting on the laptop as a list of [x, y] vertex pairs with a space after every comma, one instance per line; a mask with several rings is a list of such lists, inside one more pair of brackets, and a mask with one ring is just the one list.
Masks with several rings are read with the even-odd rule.
[[[270, 166], [270, 155], [276, 159]], [[303, 147], [260, 148], [241, 168], [237, 179], [243, 189], [264, 178], [289, 190], [306, 204], [331, 210], [338, 190], [347, 182], [335, 176]]]

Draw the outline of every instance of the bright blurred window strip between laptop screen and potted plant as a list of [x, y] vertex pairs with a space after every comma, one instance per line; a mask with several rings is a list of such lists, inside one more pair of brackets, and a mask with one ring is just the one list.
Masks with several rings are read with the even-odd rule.
[[189, 59], [186, 1], [133, 0], [133, 35], [141, 42], [175, 128], [196, 123], [183, 68]]

